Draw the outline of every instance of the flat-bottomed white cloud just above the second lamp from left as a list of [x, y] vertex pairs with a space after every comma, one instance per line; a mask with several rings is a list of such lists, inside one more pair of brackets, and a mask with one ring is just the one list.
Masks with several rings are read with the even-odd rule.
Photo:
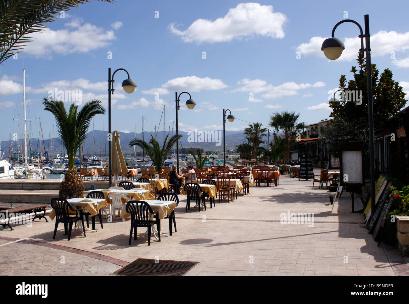
[[[209, 77], [200, 78], [197, 76], [186, 76], [173, 78], [162, 84], [162, 88], [154, 88], [148, 91], [142, 91], [144, 94], [154, 95], [159, 94], [169, 94], [171, 91], [189, 91], [189, 92], [200, 92], [202, 90], [219, 90], [226, 88], [227, 85], [220, 79], [212, 79]], [[183, 95], [181, 98], [184, 97]]]

